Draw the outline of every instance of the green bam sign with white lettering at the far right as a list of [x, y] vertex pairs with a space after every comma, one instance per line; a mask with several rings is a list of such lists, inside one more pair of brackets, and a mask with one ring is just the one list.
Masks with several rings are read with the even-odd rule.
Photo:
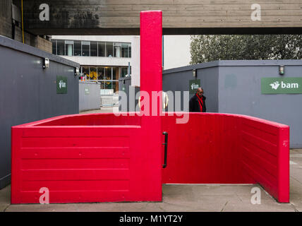
[[302, 93], [302, 78], [261, 78], [261, 93]]

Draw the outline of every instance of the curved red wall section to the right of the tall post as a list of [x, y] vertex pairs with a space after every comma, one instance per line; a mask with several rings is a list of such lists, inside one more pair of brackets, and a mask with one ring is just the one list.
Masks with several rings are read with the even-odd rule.
[[[187, 113], [188, 114], [188, 113]], [[162, 117], [169, 133], [164, 184], [261, 184], [289, 202], [289, 126], [236, 114]]]

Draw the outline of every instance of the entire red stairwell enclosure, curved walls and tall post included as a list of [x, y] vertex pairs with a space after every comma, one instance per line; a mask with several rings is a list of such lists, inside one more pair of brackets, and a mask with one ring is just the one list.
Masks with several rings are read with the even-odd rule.
[[[140, 14], [141, 90], [162, 90], [162, 12]], [[69, 115], [13, 126], [11, 203], [161, 201], [162, 183], [259, 183], [289, 202], [289, 126], [231, 114]], [[154, 109], [154, 108], [153, 108]], [[152, 114], [150, 107], [150, 114]], [[169, 133], [162, 167], [162, 131]]]

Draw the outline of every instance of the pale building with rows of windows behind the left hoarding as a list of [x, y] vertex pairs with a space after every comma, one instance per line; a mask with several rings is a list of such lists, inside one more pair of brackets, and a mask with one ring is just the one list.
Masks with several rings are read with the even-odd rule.
[[133, 38], [54, 35], [52, 53], [80, 64], [80, 73], [85, 81], [98, 82], [101, 95], [113, 95], [119, 90], [119, 78], [127, 76], [128, 66], [132, 65]]

